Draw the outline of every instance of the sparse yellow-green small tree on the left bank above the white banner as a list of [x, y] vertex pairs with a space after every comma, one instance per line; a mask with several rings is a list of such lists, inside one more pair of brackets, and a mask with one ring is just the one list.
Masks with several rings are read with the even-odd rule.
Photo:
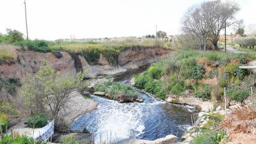
[[50, 113], [58, 122], [61, 109], [66, 107], [70, 93], [84, 88], [83, 72], [74, 77], [59, 77], [56, 70], [47, 63], [39, 68], [35, 76], [25, 77], [22, 81], [21, 96], [33, 112]]

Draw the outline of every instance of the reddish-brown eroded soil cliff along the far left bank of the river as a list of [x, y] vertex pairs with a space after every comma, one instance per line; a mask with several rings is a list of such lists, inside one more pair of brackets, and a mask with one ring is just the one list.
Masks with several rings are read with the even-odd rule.
[[15, 58], [10, 63], [0, 65], [0, 77], [16, 77], [21, 79], [37, 72], [38, 68], [48, 62], [49, 65], [57, 70], [60, 76], [76, 76], [77, 72], [87, 72], [87, 77], [96, 76], [119, 76], [134, 69], [149, 65], [167, 56], [170, 51], [163, 48], [138, 47], [129, 48], [120, 52], [118, 65], [111, 65], [102, 54], [96, 65], [88, 65], [83, 56], [67, 52], [35, 52], [35, 51], [16, 51]]

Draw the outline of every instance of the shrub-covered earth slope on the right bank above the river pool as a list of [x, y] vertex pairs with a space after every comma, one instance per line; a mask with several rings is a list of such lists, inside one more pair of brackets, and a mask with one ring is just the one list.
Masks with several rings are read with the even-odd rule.
[[[253, 56], [248, 54], [233, 54], [225, 52], [209, 52], [200, 54], [195, 51], [182, 50], [174, 58], [160, 61], [148, 68], [142, 74], [134, 77], [134, 86], [152, 93], [160, 99], [165, 99], [166, 95], [185, 95], [191, 92], [195, 97], [203, 100], [223, 99], [223, 88], [234, 91], [234, 86], [241, 89], [250, 84], [245, 81], [248, 77], [248, 70], [242, 70], [239, 66], [248, 63]], [[244, 81], [241, 85], [241, 81]], [[218, 92], [215, 90], [218, 89]], [[161, 95], [159, 95], [161, 93]], [[243, 90], [236, 96], [230, 97], [232, 100], [241, 102], [248, 95], [244, 95]], [[241, 95], [244, 95], [242, 98]]]

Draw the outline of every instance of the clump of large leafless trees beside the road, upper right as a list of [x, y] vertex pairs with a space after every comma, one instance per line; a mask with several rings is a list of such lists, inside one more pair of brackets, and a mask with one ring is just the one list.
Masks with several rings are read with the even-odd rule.
[[184, 15], [182, 30], [196, 36], [202, 50], [205, 51], [206, 40], [211, 40], [217, 49], [221, 30], [225, 28], [225, 23], [231, 26], [237, 22], [234, 15], [238, 10], [239, 6], [230, 1], [206, 1], [194, 5]]

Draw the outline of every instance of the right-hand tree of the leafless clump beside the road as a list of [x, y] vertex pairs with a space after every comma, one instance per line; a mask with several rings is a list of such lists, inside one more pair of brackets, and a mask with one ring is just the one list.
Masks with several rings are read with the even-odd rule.
[[225, 29], [225, 26], [229, 27], [241, 23], [241, 21], [236, 20], [234, 17], [239, 11], [239, 6], [234, 1], [221, 2], [216, 0], [207, 2], [205, 8], [210, 11], [209, 14], [213, 17], [209, 40], [215, 49], [218, 49], [221, 30]]

